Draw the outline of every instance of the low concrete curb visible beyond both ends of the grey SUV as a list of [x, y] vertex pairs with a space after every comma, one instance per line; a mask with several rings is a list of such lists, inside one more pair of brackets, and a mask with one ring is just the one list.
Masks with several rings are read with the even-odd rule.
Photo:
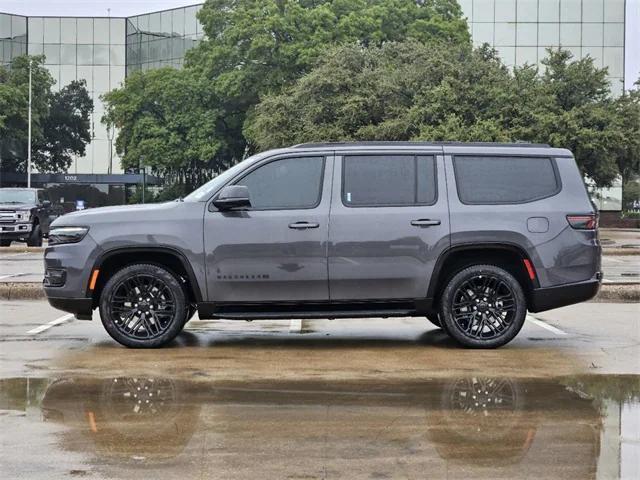
[[[42, 284], [14, 282], [0, 284], [0, 300], [41, 300]], [[640, 303], [640, 283], [605, 283], [593, 302]]]

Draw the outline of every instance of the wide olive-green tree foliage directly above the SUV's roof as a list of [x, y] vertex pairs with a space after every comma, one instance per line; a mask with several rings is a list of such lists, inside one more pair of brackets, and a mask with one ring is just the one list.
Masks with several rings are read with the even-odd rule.
[[549, 50], [544, 65], [542, 74], [528, 65], [510, 71], [486, 45], [343, 46], [264, 96], [244, 133], [261, 149], [328, 140], [524, 140], [570, 148], [601, 186], [623, 168], [637, 171], [637, 91], [612, 100], [606, 70], [566, 51]]

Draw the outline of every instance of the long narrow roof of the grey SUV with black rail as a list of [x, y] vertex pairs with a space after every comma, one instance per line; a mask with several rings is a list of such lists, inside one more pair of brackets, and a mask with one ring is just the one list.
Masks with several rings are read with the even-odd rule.
[[425, 151], [431, 153], [473, 155], [544, 155], [550, 157], [573, 157], [564, 148], [554, 148], [544, 143], [498, 143], [498, 142], [322, 142], [301, 143], [280, 151], [332, 150], [336, 153], [349, 151], [396, 150]]

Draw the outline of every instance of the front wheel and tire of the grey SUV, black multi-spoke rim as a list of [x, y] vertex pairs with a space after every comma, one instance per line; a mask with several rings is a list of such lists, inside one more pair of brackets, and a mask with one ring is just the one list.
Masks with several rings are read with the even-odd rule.
[[173, 273], [158, 265], [134, 264], [107, 281], [100, 318], [107, 333], [126, 347], [162, 347], [182, 331], [186, 300]]

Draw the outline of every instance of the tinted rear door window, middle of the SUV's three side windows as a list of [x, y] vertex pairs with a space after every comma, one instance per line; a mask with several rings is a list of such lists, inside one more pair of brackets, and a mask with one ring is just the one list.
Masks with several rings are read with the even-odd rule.
[[343, 161], [347, 206], [429, 205], [436, 200], [433, 157], [358, 155]]

